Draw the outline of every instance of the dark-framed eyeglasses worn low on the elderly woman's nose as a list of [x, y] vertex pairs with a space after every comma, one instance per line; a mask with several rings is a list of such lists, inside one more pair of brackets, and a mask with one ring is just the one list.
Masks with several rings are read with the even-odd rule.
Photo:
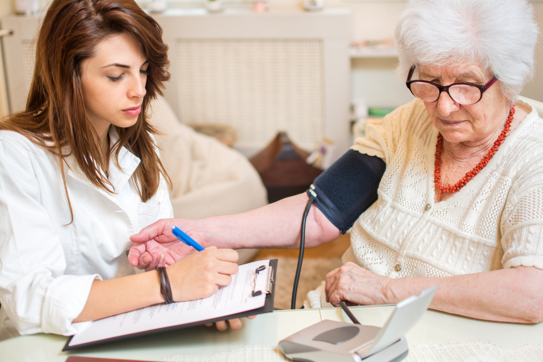
[[412, 66], [407, 75], [407, 88], [413, 96], [425, 102], [435, 102], [439, 99], [441, 92], [447, 92], [456, 103], [464, 105], [477, 103], [483, 98], [484, 91], [498, 80], [492, 77], [485, 85], [461, 82], [441, 86], [426, 80], [411, 80], [414, 71], [415, 66]]

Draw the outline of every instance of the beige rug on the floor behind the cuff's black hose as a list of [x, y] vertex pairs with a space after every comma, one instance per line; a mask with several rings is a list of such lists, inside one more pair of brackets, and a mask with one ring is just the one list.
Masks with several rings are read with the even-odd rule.
[[[291, 309], [292, 285], [298, 258], [274, 255], [267, 258], [277, 259], [274, 307]], [[304, 258], [298, 282], [298, 293], [296, 293], [296, 308], [300, 308], [304, 304], [308, 291], [317, 288], [326, 279], [326, 274], [329, 271], [341, 265], [340, 258]]]

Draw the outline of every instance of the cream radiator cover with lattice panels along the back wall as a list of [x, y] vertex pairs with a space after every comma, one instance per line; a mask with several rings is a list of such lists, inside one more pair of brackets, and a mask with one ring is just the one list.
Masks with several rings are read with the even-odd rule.
[[[324, 138], [350, 145], [350, 12], [168, 10], [154, 15], [172, 62], [165, 97], [181, 122], [225, 124], [250, 155], [278, 131], [311, 150]], [[7, 17], [4, 41], [12, 110], [24, 107], [37, 17]]]

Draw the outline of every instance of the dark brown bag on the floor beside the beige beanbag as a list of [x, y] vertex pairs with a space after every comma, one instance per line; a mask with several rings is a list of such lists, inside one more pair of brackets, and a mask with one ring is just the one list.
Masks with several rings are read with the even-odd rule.
[[286, 132], [279, 132], [266, 148], [250, 158], [268, 190], [269, 202], [304, 192], [323, 172], [306, 162], [308, 156]]

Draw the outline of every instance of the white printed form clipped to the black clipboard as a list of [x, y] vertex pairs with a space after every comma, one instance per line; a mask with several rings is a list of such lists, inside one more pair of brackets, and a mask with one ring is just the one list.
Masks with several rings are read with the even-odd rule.
[[232, 282], [205, 299], [155, 304], [93, 321], [75, 334], [68, 345], [205, 321], [263, 307], [266, 293], [252, 296], [253, 291], [264, 291], [268, 287], [267, 272], [256, 273], [261, 265], [268, 266], [269, 260], [239, 265], [238, 272], [232, 276]]

